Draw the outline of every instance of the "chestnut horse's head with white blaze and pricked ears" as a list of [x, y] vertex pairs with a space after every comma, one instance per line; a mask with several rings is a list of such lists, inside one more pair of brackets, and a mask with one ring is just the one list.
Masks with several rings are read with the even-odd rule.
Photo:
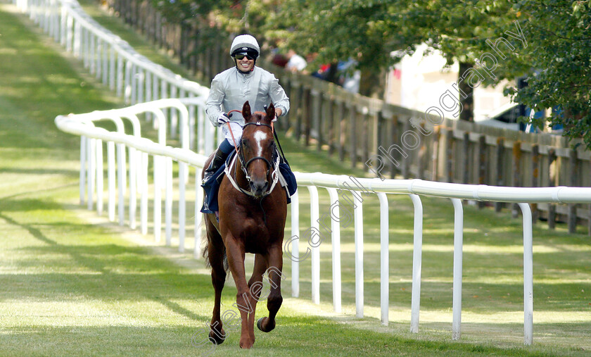
[[262, 197], [269, 187], [269, 173], [273, 165], [275, 142], [271, 120], [275, 117], [275, 107], [270, 104], [267, 112], [250, 113], [248, 101], [242, 107], [244, 128], [241, 151], [246, 169], [250, 192]]

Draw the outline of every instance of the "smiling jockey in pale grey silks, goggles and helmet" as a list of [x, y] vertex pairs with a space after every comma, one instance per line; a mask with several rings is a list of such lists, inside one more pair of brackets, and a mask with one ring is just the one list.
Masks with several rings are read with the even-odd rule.
[[225, 139], [215, 151], [209, 167], [205, 169], [203, 182], [222, 166], [234, 150], [232, 135], [226, 123], [230, 123], [236, 144], [242, 137], [244, 118], [242, 115], [233, 115], [229, 118], [229, 111], [241, 111], [246, 101], [250, 103], [253, 112], [265, 111], [265, 106], [272, 103], [275, 107], [273, 121], [289, 111], [289, 99], [279, 85], [279, 80], [267, 70], [255, 66], [259, 55], [260, 47], [255, 37], [236, 36], [230, 47], [230, 56], [236, 66], [219, 73], [211, 82], [205, 113], [213, 125], [222, 127]]

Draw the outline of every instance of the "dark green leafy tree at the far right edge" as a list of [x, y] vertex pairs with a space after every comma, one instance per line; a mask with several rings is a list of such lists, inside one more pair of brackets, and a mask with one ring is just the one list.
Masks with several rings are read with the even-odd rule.
[[[517, 1], [525, 19], [530, 51], [524, 58], [535, 69], [527, 87], [509, 88], [514, 101], [536, 111], [554, 108], [549, 125], [563, 125], [569, 139], [583, 139], [591, 149], [591, 3], [587, 1]], [[546, 119], [533, 119], [545, 127]]]

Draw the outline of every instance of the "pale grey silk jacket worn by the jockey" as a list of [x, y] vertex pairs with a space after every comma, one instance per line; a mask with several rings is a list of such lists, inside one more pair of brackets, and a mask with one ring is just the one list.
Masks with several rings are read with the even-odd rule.
[[[265, 111], [264, 106], [273, 104], [275, 108], [281, 108], [281, 116], [289, 111], [289, 98], [279, 80], [267, 70], [254, 67], [250, 73], [241, 73], [236, 67], [224, 70], [216, 75], [211, 81], [210, 94], [205, 103], [205, 113], [207, 113], [210, 122], [214, 126], [220, 126], [217, 123], [217, 117], [220, 113], [229, 111], [242, 111], [244, 102], [248, 101], [250, 110]], [[233, 113], [230, 122], [244, 125], [244, 118], [239, 113]], [[232, 130], [238, 125], [232, 125]], [[224, 133], [227, 127], [224, 126]], [[238, 139], [241, 135], [234, 132], [234, 137]]]

